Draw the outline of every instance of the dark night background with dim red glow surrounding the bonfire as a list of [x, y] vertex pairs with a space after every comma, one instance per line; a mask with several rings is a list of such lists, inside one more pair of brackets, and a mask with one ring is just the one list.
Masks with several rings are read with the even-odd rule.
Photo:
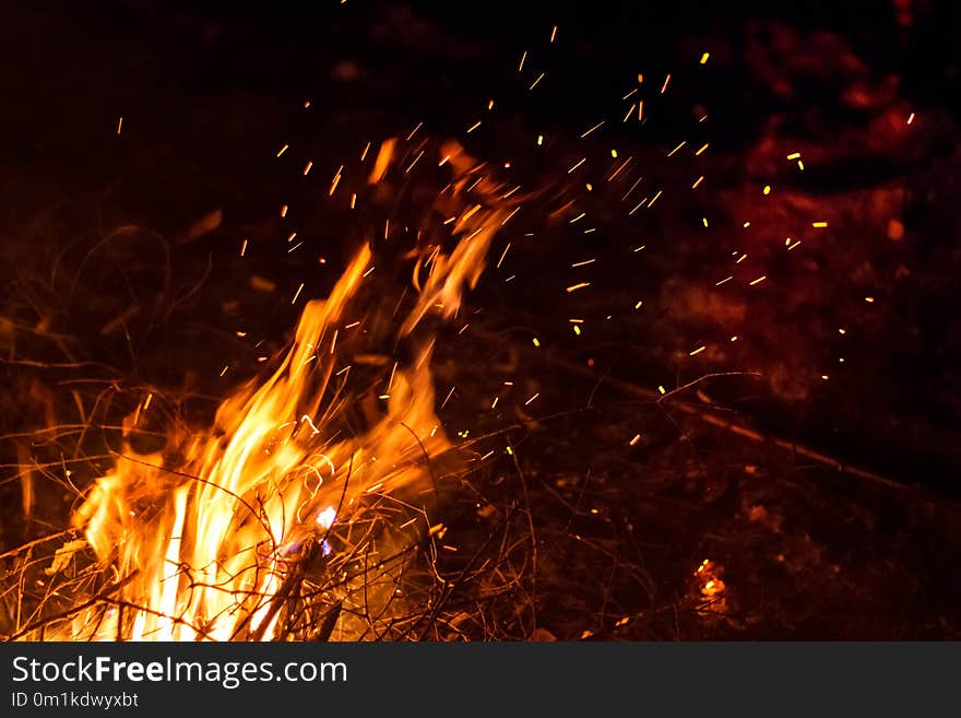
[[[418, 122], [463, 140], [496, 98], [497, 120], [467, 146], [503, 163], [543, 132], [550, 158], [515, 172], [550, 199], [572, 196], [554, 184], [572, 161], [609, 163], [612, 148], [665, 184], [708, 176], [700, 195], [665, 192], [642, 220], [596, 191], [603, 232], [590, 248], [566, 222], [521, 219], [507, 237], [519, 279], [488, 269], [467, 299], [477, 338], [452, 331], [440, 350], [438, 382], [462, 386], [441, 415], [451, 435], [567, 412], [514, 436], [544, 491], [539, 626], [561, 638], [957, 638], [959, 15], [947, 0], [13, 3], [0, 26], [0, 427], [46, 425], [81, 375], [209, 398], [254, 375], [296, 321], [293, 291], [329, 290], [363, 234], [325, 203], [337, 166]], [[527, 48], [525, 72], [548, 70], [536, 95], [517, 80]], [[638, 73], [649, 86], [668, 72], [642, 132], [608, 121], [579, 144], [624, 113]], [[707, 129], [693, 119], [704, 111]], [[700, 169], [664, 158], [686, 138], [711, 142]], [[795, 150], [804, 173], [784, 160]], [[295, 187], [307, 160], [324, 190], [312, 196]], [[271, 244], [288, 200], [305, 208], [309, 256]], [[812, 233], [821, 219], [830, 227]], [[105, 242], [118, 227], [123, 242]], [[785, 236], [803, 239], [803, 257], [784, 258]], [[763, 294], [715, 291], [732, 251], [768, 275]], [[589, 256], [591, 292], [566, 294], [586, 276], [571, 261]], [[275, 292], [252, 291], [253, 274]], [[583, 337], [569, 317], [586, 318]], [[700, 344], [710, 351], [690, 356]], [[484, 368], [511, 363], [544, 403], [478, 413], [503, 378]], [[705, 379], [677, 411], [653, 402], [659, 385], [725, 372], [760, 376]], [[699, 422], [704, 407], [867, 473]], [[643, 451], [628, 447], [636, 433]], [[43, 450], [8, 444], [4, 464]], [[508, 470], [485, 471], [478, 482], [496, 486]], [[24, 522], [17, 484], [0, 490], [0, 548], [62, 525], [59, 494]], [[576, 504], [570, 516], [555, 494]], [[582, 555], [573, 532], [602, 557]], [[705, 608], [689, 569], [707, 556], [729, 589]], [[532, 637], [510, 625], [487, 637]]]

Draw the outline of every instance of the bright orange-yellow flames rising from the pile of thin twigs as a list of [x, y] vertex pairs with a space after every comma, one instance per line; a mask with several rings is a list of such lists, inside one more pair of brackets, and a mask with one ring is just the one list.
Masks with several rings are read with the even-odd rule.
[[[383, 143], [371, 183], [384, 176], [395, 149], [393, 140]], [[508, 216], [487, 180], [466, 189], [476, 163], [460, 146], [444, 145], [440, 156], [455, 173], [441, 198], [443, 209], [459, 208], [455, 242], [449, 252], [434, 246], [408, 255], [419, 294], [392, 333], [412, 343], [428, 314], [456, 313]], [[429, 485], [429, 458], [450, 448], [435, 412], [432, 337], [416, 337], [413, 358], [379, 385], [378, 414], [353, 435], [345, 431], [343, 416], [357, 396], [351, 360], [369, 351], [357, 319], [371, 270], [367, 245], [325, 299], [306, 305], [273, 375], [224, 400], [210, 431], [171, 429], [164, 451], [150, 456], [124, 446], [73, 517], [107, 586], [46, 637], [287, 638], [294, 579], [333, 551], [336, 528], [369, 497]]]

